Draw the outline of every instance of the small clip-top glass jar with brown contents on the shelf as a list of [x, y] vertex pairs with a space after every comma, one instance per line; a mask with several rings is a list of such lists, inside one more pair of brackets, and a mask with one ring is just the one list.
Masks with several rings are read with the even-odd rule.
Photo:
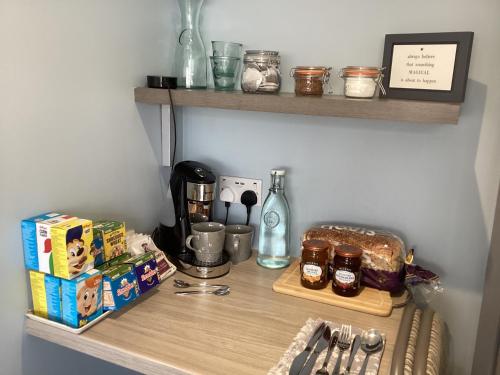
[[297, 96], [322, 96], [323, 87], [330, 80], [332, 68], [325, 66], [296, 66], [290, 71], [290, 76], [295, 78], [295, 95]]

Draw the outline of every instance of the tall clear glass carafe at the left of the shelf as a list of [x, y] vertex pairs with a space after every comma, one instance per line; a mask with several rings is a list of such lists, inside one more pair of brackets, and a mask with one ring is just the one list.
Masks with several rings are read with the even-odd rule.
[[207, 54], [200, 34], [203, 0], [178, 0], [181, 31], [175, 49], [177, 85], [188, 89], [207, 88]]

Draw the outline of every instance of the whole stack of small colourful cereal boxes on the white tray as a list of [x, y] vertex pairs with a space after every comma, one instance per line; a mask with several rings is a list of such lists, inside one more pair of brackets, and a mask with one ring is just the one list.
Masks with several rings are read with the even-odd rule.
[[153, 254], [127, 253], [124, 223], [47, 213], [21, 231], [35, 315], [79, 328], [159, 283]]

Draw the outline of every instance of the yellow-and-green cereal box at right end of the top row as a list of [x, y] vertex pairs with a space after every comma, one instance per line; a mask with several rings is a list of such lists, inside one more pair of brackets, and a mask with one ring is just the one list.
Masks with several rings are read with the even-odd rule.
[[92, 254], [99, 266], [126, 251], [125, 224], [119, 221], [97, 221], [94, 223]]

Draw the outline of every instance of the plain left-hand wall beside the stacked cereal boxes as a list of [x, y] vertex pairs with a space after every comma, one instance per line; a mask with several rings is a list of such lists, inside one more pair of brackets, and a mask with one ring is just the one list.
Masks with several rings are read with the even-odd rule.
[[[23, 334], [20, 220], [47, 210], [151, 230], [159, 118], [133, 88], [171, 48], [164, 0], [0, 1], [0, 374], [132, 374]], [[142, 117], [142, 118], [141, 118]], [[153, 142], [154, 143], [154, 142]]]

